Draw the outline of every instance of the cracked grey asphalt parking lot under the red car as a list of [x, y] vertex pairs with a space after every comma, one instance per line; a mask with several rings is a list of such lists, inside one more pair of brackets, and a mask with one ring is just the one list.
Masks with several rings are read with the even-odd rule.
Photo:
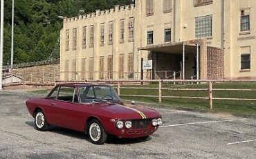
[[34, 129], [25, 101], [35, 95], [0, 91], [0, 158], [255, 158], [256, 119], [156, 108], [164, 124], [147, 141], [111, 138], [104, 145], [83, 133]]

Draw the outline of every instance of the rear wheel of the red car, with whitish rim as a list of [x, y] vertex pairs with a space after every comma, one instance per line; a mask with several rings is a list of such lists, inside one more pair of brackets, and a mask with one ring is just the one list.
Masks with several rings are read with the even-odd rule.
[[41, 109], [35, 112], [35, 129], [38, 131], [46, 131], [48, 129], [46, 117]]

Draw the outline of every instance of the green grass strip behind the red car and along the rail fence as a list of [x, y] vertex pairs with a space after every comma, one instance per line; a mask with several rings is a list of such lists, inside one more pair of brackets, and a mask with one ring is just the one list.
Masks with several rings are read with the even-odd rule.
[[[145, 85], [125, 85], [121, 86], [121, 95], [156, 95], [158, 90], [154, 89], [127, 89], [122, 87], [147, 87], [158, 88], [158, 84]], [[208, 84], [163, 84], [163, 88], [208, 88]], [[256, 83], [214, 83], [212, 88], [255, 88]], [[47, 95], [50, 90], [30, 91], [41, 95]], [[208, 91], [170, 91], [163, 90], [162, 95], [165, 96], [190, 96], [190, 97], [209, 97]], [[121, 96], [123, 100], [135, 100], [137, 102], [147, 102], [151, 104], [158, 104], [158, 97], [125, 97]], [[213, 97], [226, 98], [252, 98], [256, 99], [256, 91], [213, 91]], [[209, 109], [209, 100], [190, 100], [190, 99], [172, 99], [163, 98], [162, 104], [166, 106], [175, 106], [182, 109], [193, 109], [196, 111], [210, 111], [231, 113], [233, 115], [247, 115], [256, 117], [256, 102], [253, 101], [233, 101], [233, 100], [213, 100], [213, 109]]]

